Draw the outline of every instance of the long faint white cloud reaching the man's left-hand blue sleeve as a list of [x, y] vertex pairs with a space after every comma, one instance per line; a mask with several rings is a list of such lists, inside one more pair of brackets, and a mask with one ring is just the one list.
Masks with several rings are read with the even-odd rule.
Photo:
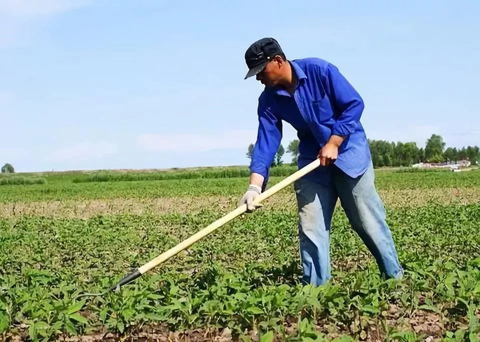
[[208, 134], [142, 134], [137, 145], [146, 151], [204, 152], [245, 148], [256, 139], [256, 130], [232, 130]]

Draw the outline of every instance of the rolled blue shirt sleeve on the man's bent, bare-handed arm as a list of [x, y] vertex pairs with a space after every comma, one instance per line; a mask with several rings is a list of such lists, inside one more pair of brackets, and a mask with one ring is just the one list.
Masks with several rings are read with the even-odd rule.
[[332, 127], [332, 134], [347, 136], [353, 133], [360, 122], [364, 108], [363, 100], [338, 69], [331, 64], [326, 68], [323, 81], [330, 101], [340, 112]]

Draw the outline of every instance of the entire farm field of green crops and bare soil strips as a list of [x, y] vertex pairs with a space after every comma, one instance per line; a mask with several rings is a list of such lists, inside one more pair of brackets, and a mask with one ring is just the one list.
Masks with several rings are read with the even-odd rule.
[[333, 278], [301, 286], [288, 186], [119, 293], [76, 298], [106, 290], [233, 210], [247, 185], [241, 174], [133, 175], [53, 174], [44, 184], [0, 186], [0, 340], [480, 338], [478, 170], [376, 172], [405, 268], [400, 281], [379, 277], [338, 205]]

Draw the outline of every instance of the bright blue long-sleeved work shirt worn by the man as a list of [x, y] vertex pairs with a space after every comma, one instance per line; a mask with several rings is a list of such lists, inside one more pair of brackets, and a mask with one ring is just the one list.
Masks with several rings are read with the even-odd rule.
[[[258, 133], [250, 171], [264, 177], [282, 137], [282, 120], [296, 131], [299, 140], [298, 168], [316, 159], [331, 135], [345, 136], [334, 161], [350, 177], [363, 174], [371, 155], [360, 116], [363, 100], [332, 64], [319, 58], [289, 61], [298, 82], [293, 97], [281, 87], [265, 87], [258, 98]], [[328, 184], [330, 166], [319, 166], [304, 177]]]

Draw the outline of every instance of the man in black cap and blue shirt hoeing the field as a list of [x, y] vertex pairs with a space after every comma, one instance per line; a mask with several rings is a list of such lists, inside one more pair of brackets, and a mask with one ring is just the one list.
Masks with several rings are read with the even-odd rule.
[[297, 131], [298, 168], [320, 159], [320, 166], [294, 183], [303, 284], [324, 284], [330, 275], [329, 230], [340, 199], [352, 228], [374, 256], [380, 273], [401, 278], [401, 268], [385, 209], [374, 186], [373, 165], [360, 124], [363, 101], [332, 64], [306, 58], [288, 61], [278, 42], [263, 38], [245, 52], [245, 79], [265, 85], [258, 99], [258, 134], [249, 186], [238, 201], [247, 203], [265, 189], [282, 137], [282, 120]]

